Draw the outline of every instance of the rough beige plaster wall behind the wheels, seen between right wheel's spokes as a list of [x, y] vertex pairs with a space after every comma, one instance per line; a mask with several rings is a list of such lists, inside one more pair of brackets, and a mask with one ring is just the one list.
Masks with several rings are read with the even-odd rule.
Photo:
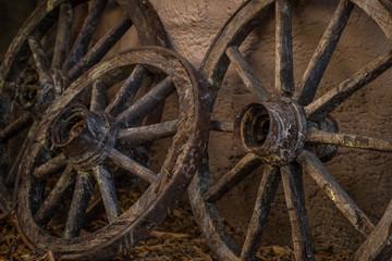
[[[243, 0], [150, 0], [172, 47], [199, 67], [215, 35]], [[334, 12], [336, 1], [294, 1], [293, 45], [295, 80], [298, 83], [318, 40]], [[274, 15], [256, 29], [241, 48], [261, 82], [274, 85]], [[355, 9], [334, 52], [318, 96], [336, 86], [369, 61], [385, 53], [390, 44], [364, 12]], [[392, 138], [392, 95], [389, 71], [353, 96], [332, 114], [341, 132]], [[233, 120], [238, 110], [255, 99], [230, 67], [212, 117]], [[213, 177], [223, 175], [244, 154], [231, 135], [211, 134], [209, 153]], [[392, 157], [387, 153], [341, 148], [327, 163], [328, 170], [373, 222], [392, 198]], [[235, 229], [244, 231], [250, 216], [260, 171], [255, 172], [219, 202], [222, 215]], [[332, 202], [305, 174], [309, 226], [317, 250], [347, 251], [364, 238], [356, 233]], [[228, 203], [230, 202], [230, 203]], [[235, 210], [235, 211], [233, 211]], [[266, 244], [291, 245], [291, 228], [283, 190], [274, 200]]]

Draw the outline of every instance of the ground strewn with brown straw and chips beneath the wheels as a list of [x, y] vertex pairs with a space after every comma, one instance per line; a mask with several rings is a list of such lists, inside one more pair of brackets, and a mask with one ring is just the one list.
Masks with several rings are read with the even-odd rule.
[[[0, 261], [5, 260], [48, 260], [50, 253], [38, 256], [29, 250], [21, 240], [11, 219], [0, 213]], [[235, 231], [235, 229], [233, 229]], [[348, 260], [347, 254], [319, 253], [317, 260]], [[136, 247], [113, 260], [137, 261], [216, 261], [217, 257], [209, 250], [197, 224], [192, 215], [189, 204], [183, 199], [180, 206], [168, 219]], [[294, 260], [289, 247], [262, 246], [257, 253], [257, 260]]]

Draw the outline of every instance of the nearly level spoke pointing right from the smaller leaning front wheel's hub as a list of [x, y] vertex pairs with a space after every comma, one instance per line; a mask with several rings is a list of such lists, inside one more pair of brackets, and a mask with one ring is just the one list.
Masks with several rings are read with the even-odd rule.
[[128, 145], [144, 144], [175, 135], [179, 121], [120, 129], [118, 139]]

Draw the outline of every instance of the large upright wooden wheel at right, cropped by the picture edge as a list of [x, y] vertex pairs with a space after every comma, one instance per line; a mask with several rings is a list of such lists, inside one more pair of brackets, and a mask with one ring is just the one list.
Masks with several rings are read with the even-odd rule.
[[[200, 69], [203, 76], [210, 84], [211, 108], [230, 64], [233, 65], [243, 84], [257, 97], [255, 103], [248, 104], [238, 112], [234, 123], [211, 122], [212, 127], [234, 133], [237, 145], [246, 156], [213, 182], [211, 178], [213, 173], [210, 171], [211, 165], [208, 163], [206, 152], [203, 167], [188, 188], [189, 200], [199, 227], [209, 247], [221, 260], [256, 259], [255, 254], [261, 243], [261, 235], [280, 181], [283, 183], [292, 226], [295, 258], [315, 260], [305, 210], [303, 171], [310, 175], [343, 215], [366, 237], [353, 256], [353, 260], [391, 258], [392, 201], [375, 226], [321, 161], [333, 158], [338, 147], [392, 152], [391, 140], [339, 133], [335, 121], [329, 116], [330, 112], [355, 91], [391, 67], [391, 50], [385, 50], [383, 55], [315, 100], [321, 77], [355, 5], [365, 11], [381, 28], [388, 40], [392, 41], [390, 26], [392, 15], [382, 3], [342, 0], [297, 85], [294, 84], [293, 77], [290, 1], [247, 1], [226, 22], [213, 40]], [[261, 21], [269, 12], [275, 12], [275, 96], [269, 94], [238, 50], [245, 38], [261, 25]], [[210, 144], [211, 139], [208, 142]], [[244, 234], [244, 244], [238, 246], [226, 231], [217, 204], [219, 200], [224, 200], [224, 196], [245, 176], [262, 164], [262, 177], [254, 212]]]

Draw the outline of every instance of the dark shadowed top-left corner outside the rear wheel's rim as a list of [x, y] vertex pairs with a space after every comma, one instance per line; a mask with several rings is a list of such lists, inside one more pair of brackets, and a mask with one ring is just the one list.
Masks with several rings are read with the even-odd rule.
[[39, 0], [0, 0], [0, 58]]

